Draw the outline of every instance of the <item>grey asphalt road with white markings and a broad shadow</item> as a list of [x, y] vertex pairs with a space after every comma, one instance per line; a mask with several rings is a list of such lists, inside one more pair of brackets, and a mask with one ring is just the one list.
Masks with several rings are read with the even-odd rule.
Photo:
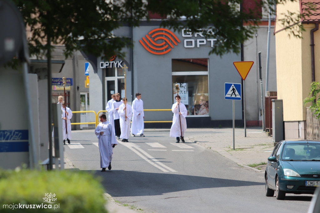
[[[308, 211], [310, 195], [287, 194], [285, 201], [266, 197], [263, 172], [240, 167], [195, 143], [176, 144], [166, 130], [144, 134], [130, 137], [129, 143], [119, 142], [110, 171], [100, 172], [93, 130], [72, 131], [64, 154], [76, 168], [100, 177], [116, 201], [145, 213]], [[186, 137], [192, 134], [197, 133], [187, 132]]]

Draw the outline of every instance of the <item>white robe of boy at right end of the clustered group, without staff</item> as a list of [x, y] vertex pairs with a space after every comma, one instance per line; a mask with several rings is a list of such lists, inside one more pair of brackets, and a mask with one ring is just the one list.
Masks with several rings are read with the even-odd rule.
[[[140, 113], [140, 114], [139, 114]], [[132, 123], [131, 134], [140, 135], [143, 134], [143, 101], [141, 99], [134, 99], [132, 101]]]

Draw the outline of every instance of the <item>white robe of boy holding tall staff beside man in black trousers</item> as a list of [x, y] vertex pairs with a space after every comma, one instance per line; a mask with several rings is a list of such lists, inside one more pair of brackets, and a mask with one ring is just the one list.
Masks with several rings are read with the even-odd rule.
[[[124, 103], [119, 106], [118, 114], [120, 116], [120, 128], [121, 128], [121, 135], [120, 138], [128, 139], [130, 135], [130, 121], [132, 117], [132, 109], [129, 104], [125, 105], [127, 108], [124, 110]], [[126, 111], [126, 112], [124, 112]], [[125, 121], [125, 113], [127, 115], [127, 121]]]

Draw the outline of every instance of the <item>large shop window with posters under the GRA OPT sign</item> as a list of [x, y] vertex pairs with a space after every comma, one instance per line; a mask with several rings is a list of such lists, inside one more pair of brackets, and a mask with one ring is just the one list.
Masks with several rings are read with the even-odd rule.
[[208, 75], [208, 59], [172, 59], [173, 103], [178, 83], [189, 116], [209, 116]]

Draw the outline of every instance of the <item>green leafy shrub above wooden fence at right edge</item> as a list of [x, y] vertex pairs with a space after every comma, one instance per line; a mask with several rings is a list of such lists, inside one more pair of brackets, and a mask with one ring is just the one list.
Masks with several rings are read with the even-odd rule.
[[[312, 103], [309, 107], [310, 111], [313, 112], [313, 116], [316, 116], [317, 119], [320, 118], [320, 83], [319, 82], [312, 82], [309, 92], [309, 97], [303, 100], [303, 104], [306, 105], [307, 103]], [[318, 98], [317, 98], [318, 97]]]

